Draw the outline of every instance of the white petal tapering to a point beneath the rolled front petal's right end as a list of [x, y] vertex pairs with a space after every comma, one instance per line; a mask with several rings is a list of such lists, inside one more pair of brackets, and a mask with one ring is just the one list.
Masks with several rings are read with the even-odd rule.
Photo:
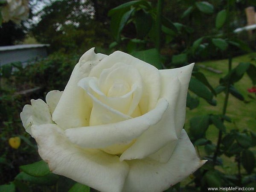
[[[162, 82], [163, 83], [163, 82]], [[167, 83], [167, 82], [166, 82]], [[168, 84], [172, 94], [169, 99], [169, 106], [157, 125], [146, 130], [137, 141], [121, 155], [120, 160], [143, 159], [150, 154], [157, 152], [169, 142], [177, 141], [175, 133], [175, 108], [180, 93], [180, 81], [176, 78]]]

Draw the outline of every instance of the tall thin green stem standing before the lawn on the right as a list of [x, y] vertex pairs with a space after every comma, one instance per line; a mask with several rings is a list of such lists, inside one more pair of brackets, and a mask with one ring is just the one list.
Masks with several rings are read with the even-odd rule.
[[[232, 56], [230, 55], [230, 57], [228, 58], [228, 73], [230, 73], [231, 69], [232, 69]], [[226, 91], [225, 91], [225, 99], [224, 99], [222, 115], [225, 115], [226, 112], [227, 112], [227, 103], [228, 103], [228, 97], [229, 97], [229, 90], [230, 90], [230, 77], [227, 81], [227, 87], [226, 87]], [[221, 146], [221, 141], [222, 141], [222, 131], [220, 130], [219, 133], [218, 133], [218, 141], [217, 141], [216, 150], [215, 150], [214, 155], [213, 155], [213, 162], [214, 163], [216, 163], [216, 160], [217, 160], [218, 152], [219, 152], [220, 146]]]

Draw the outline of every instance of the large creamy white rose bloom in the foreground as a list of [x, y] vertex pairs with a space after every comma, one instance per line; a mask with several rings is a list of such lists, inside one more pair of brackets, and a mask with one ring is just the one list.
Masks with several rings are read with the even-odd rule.
[[161, 192], [206, 162], [183, 129], [193, 65], [157, 70], [92, 48], [64, 91], [20, 117], [53, 173], [102, 192]]

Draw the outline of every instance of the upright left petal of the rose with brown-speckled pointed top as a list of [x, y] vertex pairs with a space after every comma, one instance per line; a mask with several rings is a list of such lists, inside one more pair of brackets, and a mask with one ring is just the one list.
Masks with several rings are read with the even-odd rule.
[[52, 119], [61, 128], [74, 128], [89, 125], [91, 99], [77, 85], [78, 81], [87, 77], [90, 70], [107, 55], [95, 54], [94, 48], [85, 52], [74, 68], [70, 80], [52, 114]]

